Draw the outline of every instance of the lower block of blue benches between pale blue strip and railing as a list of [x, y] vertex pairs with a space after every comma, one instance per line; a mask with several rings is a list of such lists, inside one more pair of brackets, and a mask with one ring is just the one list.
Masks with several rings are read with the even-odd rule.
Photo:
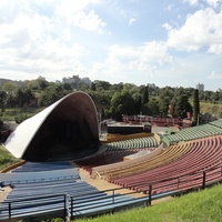
[[129, 195], [108, 195], [105, 192], [99, 191], [83, 181], [77, 182], [74, 180], [63, 180], [61, 183], [52, 181], [47, 186], [46, 183], [42, 184], [41, 182], [34, 185], [32, 183], [32, 186], [29, 183], [14, 185], [7, 201], [0, 206], [0, 220], [8, 219], [9, 216], [8, 202], [11, 202], [11, 216], [13, 219], [26, 219], [50, 213], [53, 215], [52, 218], [54, 215], [63, 216], [64, 204], [67, 204], [65, 208], [71, 212], [69, 196], [73, 196], [72, 211], [74, 215], [84, 214], [89, 210], [92, 213], [94, 208], [100, 210], [103, 205], [110, 205], [110, 208], [117, 204], [124, 205], [134, 200]]

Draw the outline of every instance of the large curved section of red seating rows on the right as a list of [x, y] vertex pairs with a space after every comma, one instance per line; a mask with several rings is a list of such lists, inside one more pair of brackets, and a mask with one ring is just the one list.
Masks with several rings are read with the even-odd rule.
[[[183, 182], [183, 188], [186, 189], [189, 185], [194, 186], [198, 182], [198, 179], [196, 181], [193, 180], [194, 176], [200, 176], [194, 173], [221, 165], [221, 142], [222, 138], [220, 137], [191, 142], [192, 149], [173, 162], [152, 170], [148, 169], [143, 173], [110, 180], [110, 182], [142, 192], [148, 192], [149, 183], [153, 183], [152, 191], [154, 193], [182, 189], [176, 181]], [[192, 183], [190, 182], [191, 179]]]

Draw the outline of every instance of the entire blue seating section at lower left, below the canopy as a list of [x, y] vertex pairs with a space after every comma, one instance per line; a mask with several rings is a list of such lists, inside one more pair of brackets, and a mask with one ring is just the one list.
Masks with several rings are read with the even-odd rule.
[[[61, 170], [65, 165], [67, 169]], [[52, 163], [26, 163], [12, 173], [1, 173], [3, 185], [10, 184], [11, 193], [0, 205], [0, 221], [9, 219], [9, 203], [12, 219], [39, 220], [38, 216], [63, 216], [64, 204], [68, 214], [92, 214], [135, 203], [130, 195], [107, 194], [82, 181], [79, 171], [71, 164], [56, 167]], [[44, 171], [46, 167], [48, 171]], [[51, 168], [50, 168], [51, 167]], [[52, 170], [57, 168], [57, 170]], [[23, 169], [23, 171], [22, 171]], [[34, 172], [37, 169], [37, 172]], [[94, 209], [94, 210], [93, 210]], [[67, 214], [67, 212], [65, 212]]]

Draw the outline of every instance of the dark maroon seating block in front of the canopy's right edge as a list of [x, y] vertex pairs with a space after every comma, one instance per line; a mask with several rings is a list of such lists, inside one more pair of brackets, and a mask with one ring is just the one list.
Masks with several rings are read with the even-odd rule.
[[97, 155], [93, 155], [91, 158], [82, 159], [74, 161], [78, 165], [87, 170], [88, 172], [92, 172], [92, 168], [99, 167], [99, 165], [105, 165], [111, 163], [117, 163], [123, 161], [123, 158], [130, 154], [137, 153], [134, 150], [123, 150], [123, 151], [107, 151], [99, 153]]

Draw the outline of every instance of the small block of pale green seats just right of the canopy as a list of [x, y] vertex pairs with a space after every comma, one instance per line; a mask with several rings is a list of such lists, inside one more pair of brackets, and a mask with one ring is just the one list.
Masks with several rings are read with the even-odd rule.
[[133, 150], [133, 149], [158, 147], [158, 141], [153, 137], [137, 138], [137, 139], [110, 142], [105, 147], [107, 147], [107, 151]]

